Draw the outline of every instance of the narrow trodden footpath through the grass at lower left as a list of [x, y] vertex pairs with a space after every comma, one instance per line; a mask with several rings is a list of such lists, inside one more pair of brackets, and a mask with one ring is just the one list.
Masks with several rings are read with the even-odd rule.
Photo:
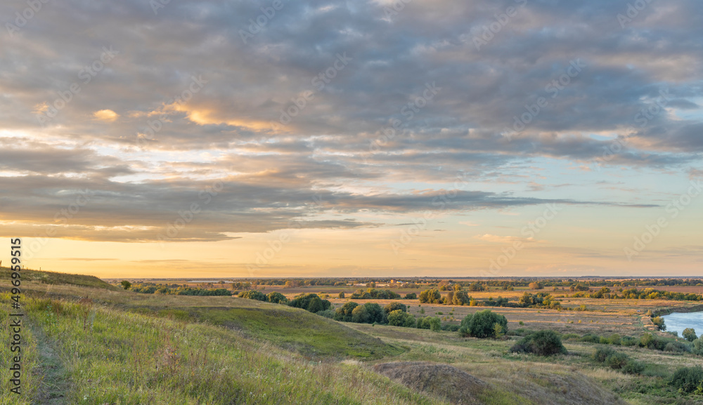
[[67, 405], [66, 396], [70, 383], [66, 378], [63, 361], [59, 357], [49, 336], [37, 324], [32, 325], [32, 333], [37, 339], [39, 367], [37, 373], [42, 377], [41, 387], [37, 392], [37, 405]]

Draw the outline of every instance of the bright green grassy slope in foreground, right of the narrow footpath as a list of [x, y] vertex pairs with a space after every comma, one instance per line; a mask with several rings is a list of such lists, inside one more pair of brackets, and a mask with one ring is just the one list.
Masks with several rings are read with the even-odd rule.
[[58, 345], [70, 404], [446, 404], [219, 326], [49, 299], [27, 309]]

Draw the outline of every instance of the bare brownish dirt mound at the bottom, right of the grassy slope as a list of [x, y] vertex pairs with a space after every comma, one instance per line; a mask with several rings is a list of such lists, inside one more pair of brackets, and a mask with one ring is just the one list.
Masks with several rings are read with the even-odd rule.
[[449, 399], [453, 404], [481, 404], [477, 394], [488, 387], [484, 381], [448, 364], [397, 361], [376, 364], [373, 371], [413, 390]]

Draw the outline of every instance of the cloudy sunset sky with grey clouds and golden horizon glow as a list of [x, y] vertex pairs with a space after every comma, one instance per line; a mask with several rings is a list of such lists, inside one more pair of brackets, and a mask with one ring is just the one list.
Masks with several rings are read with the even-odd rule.
[[700, 275], [695, 0], [8, 0], [0, 234], [98, 277]]

